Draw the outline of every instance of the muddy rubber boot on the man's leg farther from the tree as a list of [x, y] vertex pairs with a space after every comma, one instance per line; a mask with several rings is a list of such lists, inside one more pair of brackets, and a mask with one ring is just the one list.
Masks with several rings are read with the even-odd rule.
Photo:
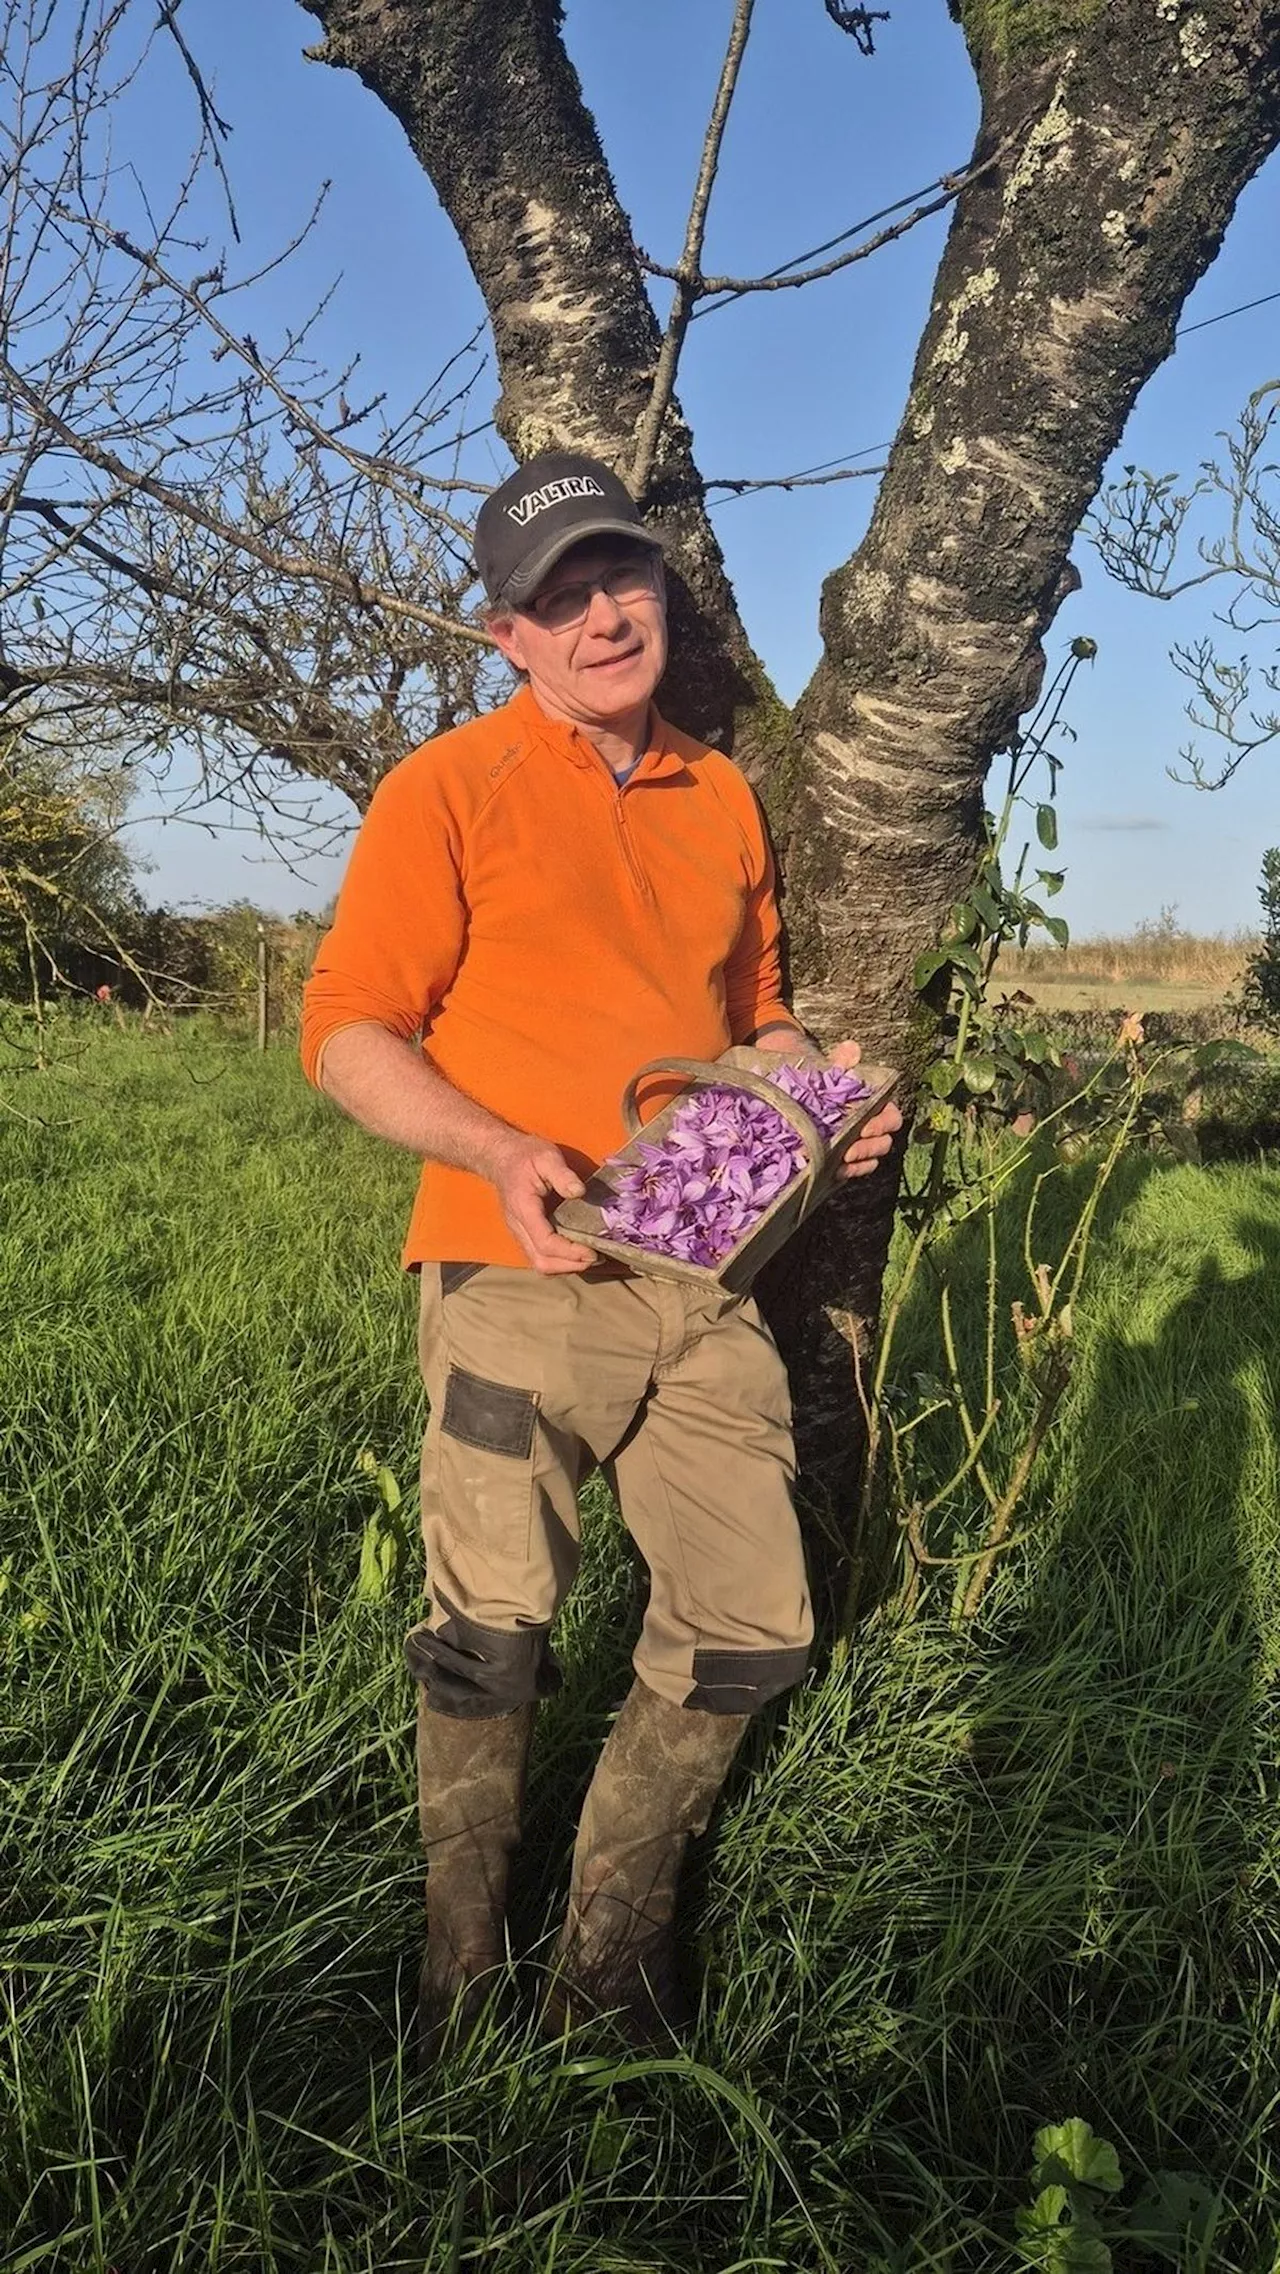
[[475, 2024], [507, 1960], [507, 1869], [521, 1837], [534, 1708], [493, 1719], [432, 1712], [418, 1690], [418, 1824], [427, 1858], [427, 1953], [418, 2058]]

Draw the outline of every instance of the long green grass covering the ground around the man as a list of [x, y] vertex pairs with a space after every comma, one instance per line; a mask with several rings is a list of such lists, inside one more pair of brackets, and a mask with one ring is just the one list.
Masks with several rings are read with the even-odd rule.
[[1123, 1167], [1034, 1546], [973, 1635], [939, 1594], [753, 1737], [696, 1872], [700, 2033], [657, 2065], [530, 2024], [637, 1617], [589, 1494], [532, 1962], [421, 2081], [421, 1576], [355, 1592], [357, 1455], [409, 1487], [421, 1426], [414, 1169], [211, 1037], [109, 1032], [7, 1094], [7, 2269], [1007, 2269], [1066, 2115], [1123, 2204], [1219, 2199], [1210, 2244], [1116, 2267], [1280, 2267], [1278, 1176]]

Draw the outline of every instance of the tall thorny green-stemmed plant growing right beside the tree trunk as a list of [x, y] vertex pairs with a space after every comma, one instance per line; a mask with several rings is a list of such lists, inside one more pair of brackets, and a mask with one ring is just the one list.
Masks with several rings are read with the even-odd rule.
[[[900, 1217], [909, 1235], [893, 1280], [873, 1364], [859, 1369], [866, 1421], [866, 1464], [859, 1508], [859, 1539], [871, 1537], [875, 1517], [889, 1508], [905, 1546], [905, 1574], [896, 1599], [909, 1612], [921, 1599], [925, 1574], [946, 1571], [953, 1583], [953, 1617], [973, 1619], [998, 1558], [1019, 1546], [1014, 1528], [1025, 1508], [1034, 1469], [1053, 1433], [1073, 1369], [1073, 1319], [1098, 1205], [1114, 1169], [1139, 1135], [1162, 1128], [1155, 1110], [1157, 1076], [1171, 1051], [1148, 1051], [1141, 1021], [1125, 1016], [1100, 1055], [1084, 1067], [1064, 1060], [1048, 1035], [1028, 1026], [1034, 1010], [1021, 991], [996, 987], [1000, 948], [1025, 948], [1032, 930], [1066, 944], [1066, 923], [1048, 914], [1028, 887], [1032, 844], [1057, 850], [1057, 778], [1062, 760], [1053, 750], [1071, 682], [1091, 662], [1091, 639], [1075, 639], [1071, 653], [1028, 725], [1009, 748], [1005, 798], [987, 814], [987, 844], [964, 901], [937, 948], [916, 962], [916, 987], [948, 1001], [941, 1019], [944, 1048], [925, 1071], [923, 1096], [907, 1153]], [[1044, 794], [1032, 791], [1037, 769], [1048, 773]], [[1005, 855], [1021, 812], [1032, 830], [1005, 878]], [[1034, 869], [1034, 885], [1053, 898], [1064, 882], [1059, 869]], [[1194, 1064], [1210, 1060], [1212, 1046]], [[1055, 1153], [1046, 1153], [1046, 1135]], [[1050, 1178], [1073, 1162], [1094, 1164], [1080, 1185], [1073, 1217], [1059, 1235], [1057, 1258], [1037, 1248], [1039, 1203]], [[916, 1167], [919, 1164], [919, 1167]], [[1003, 1285], [996, 1210], [1021, 1171], [1032, 1169], [1019, 1239], [1021, 1287]], [[984, 1348], [978, 1373], [962, 1364], [953, 1319], [953, 1276], [971, 1273], [973, 1233], [984, 1244]], [[919, 1373], [914, 1396], [893, 1376], [898, 1333], [907, 1303], [923, 1289], [937, 1305], [939, 1371]], [[1000, 1346], [1000, 1317], [1009, 1339]], [[934, 1451], [932, 1476], [919, 1483], [921, 1430], [950, 1435], [950, 1455]], [[939, 1480], [941, 1469], [941, 1480]], [[930, 1524], [950, 1519], [959, 1546], [937, 1553]], [[848, 1599], [848, 1626], [859, 1610], [862, 1567]]]

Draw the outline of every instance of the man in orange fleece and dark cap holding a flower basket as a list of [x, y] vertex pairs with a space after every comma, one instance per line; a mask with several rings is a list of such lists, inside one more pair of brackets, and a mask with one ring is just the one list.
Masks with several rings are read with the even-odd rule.
[[[487, 498], [475, 557], [516, 696], [380, 785], [307, 987], [307, 1073], [425, 1162], [430, 1396], [418, 1680], [427, 1851], [423, 2022], [471, 2017], [505, 1956], [507, 1865], [550, 1624], [598, 1462], [650, 1571], [577, 1833], [548, 2017], [684, 2024], [673, 1912], [753, 1712], [812, 1640], [787, 1378], [750, 1298], [602, 1264], [552, 1223], [625, 1137], [650, 1057], [796, 1053], [759, 810], [653, 707], [659, 539], [618, 478], [546, 453]], [[846, 1062], [855, 1046], [841, 1046]], [[900, 1126], [855, 1146], [866, 1173]]]

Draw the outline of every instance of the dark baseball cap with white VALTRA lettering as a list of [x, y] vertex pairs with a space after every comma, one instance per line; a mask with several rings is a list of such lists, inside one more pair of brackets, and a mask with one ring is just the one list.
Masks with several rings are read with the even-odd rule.
[[662, 553], [662, 537], [646, 530], [612, 466], [577, 450], [539, 450], [484, 498], [475, 518], [475, 566], [489, 600], [521, 607], [584, 537], [630, 537]]

